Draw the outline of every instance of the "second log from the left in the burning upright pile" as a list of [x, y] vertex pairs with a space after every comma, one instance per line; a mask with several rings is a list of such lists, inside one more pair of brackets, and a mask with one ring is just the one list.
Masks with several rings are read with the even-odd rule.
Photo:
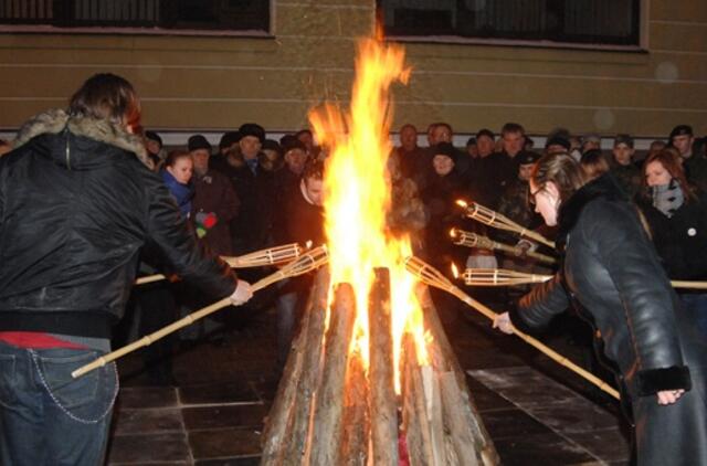
[[283, 451], [284, 465], [308, 464], [306, 460], [309, 446], [310, 422], [314, 411], [314, 399], [319, 379], [321, 377], [325, 321], [328, 307], [328, 294], [330, 288], [329, 274], [327, 271], [326, 280], [320, 288], [313, 294], [312, 307], [309, 308], [309, 324], [304, 331], [307, 333], [307, 347], [305, 349], [304, 370], [297, 385], [297, 393], [294, 400], [294, 413], [291, 420], [289, 439], [281, 449]]

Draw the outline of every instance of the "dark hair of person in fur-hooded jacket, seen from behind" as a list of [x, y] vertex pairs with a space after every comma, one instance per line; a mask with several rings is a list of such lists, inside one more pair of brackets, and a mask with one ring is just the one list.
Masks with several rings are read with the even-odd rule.
[[127, 80], [112, 73], [98, 73], [86, 80], [71, 97], [68, 113], [137, 127], [140, 102]]

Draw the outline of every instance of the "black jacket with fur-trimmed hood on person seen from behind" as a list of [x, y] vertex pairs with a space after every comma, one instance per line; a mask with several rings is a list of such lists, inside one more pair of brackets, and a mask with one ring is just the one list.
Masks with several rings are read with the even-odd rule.
[[62, 110], [30, 120], [0, 158], [0, 329], [107, 338], [140, 250], [208, 292], [235, 288], [205, 255], [139, 138]]

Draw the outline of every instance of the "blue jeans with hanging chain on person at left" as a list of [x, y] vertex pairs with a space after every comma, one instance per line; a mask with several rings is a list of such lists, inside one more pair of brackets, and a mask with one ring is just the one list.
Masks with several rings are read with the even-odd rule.
[[0, 342], [0, 464], [103, 464], [118, 393], [115, 363], [71, 377], [99, 356]]

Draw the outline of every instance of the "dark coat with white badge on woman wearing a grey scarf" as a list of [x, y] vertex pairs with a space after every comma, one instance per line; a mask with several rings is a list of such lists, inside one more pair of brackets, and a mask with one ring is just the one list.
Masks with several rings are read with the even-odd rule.
[[650, 198], [639, 197], [653, 235], [653, 244], [673, 279], [707, 278], [707, 195], [683, 203], [668, 218], [653, 206]]

